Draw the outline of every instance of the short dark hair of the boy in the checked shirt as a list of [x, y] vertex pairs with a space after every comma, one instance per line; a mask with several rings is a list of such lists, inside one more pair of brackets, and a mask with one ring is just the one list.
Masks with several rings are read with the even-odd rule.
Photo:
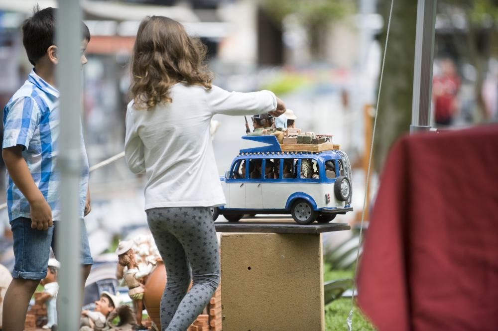
[[[55, 45], [55, 16], [57, 8], [41, 9], [34, 7], [33, 16], [22, 23], [22, 43], [26, 49], [29, 62], [35, 63], [45, 56], [47, 49]], [[83, 23], [83, 38], [90, 41], [90, 31]]]

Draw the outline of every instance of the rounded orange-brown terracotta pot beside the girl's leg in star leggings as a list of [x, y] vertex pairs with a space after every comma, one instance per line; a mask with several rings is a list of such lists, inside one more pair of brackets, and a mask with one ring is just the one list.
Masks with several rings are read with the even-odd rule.
[[158, 328], [161, 327], [161, 319], [159, 316], [162, 293], [166, 287], [166, 268], [164, 263], [157, 262], [157, 266], [148, 276], [145, 282], [143, 294], [143, 302], [149, 317]]

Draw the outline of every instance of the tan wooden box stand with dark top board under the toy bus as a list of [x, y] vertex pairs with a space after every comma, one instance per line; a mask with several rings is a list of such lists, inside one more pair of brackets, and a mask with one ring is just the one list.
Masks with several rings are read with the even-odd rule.
[[289, 221], [274, 223], [280, 233], [254, 233], [270, 231], [260, 224], [215, 222], [217, 231], [239, 230], [221, 236], [223, 330], [324, 331], [320, 232], [349, 226]]

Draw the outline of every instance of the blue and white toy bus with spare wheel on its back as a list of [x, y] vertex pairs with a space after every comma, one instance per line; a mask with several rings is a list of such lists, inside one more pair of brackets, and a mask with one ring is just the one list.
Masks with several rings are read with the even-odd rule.
[[291, 214], [297, 223], [310, 224], [353, 210], [351, 164], [344, 152], [283, 152], [272, 135], [242, 139], [240, 154], [221, 178], [227, 204], [213, 209], [213, 219]]

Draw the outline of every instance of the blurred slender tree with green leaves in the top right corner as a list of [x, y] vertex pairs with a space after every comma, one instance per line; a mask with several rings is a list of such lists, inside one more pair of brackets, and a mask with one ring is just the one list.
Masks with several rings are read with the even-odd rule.
[[[438, 13], [446, 18], [453, 28], [454, 45], [461, 57], [466, 58], [476, 69], [474, 99], [476, 102], [475, 120], [487, 120], [489, 113], [483, 99], [483, 83], [488, 72], [488, 63], [494, 43], [498, 23], [498, 0], [439, 0]], [[466, 43], [458, 39], [459, 29], [455, 28], [453, 17], [465, 19], [462, 29]]]

